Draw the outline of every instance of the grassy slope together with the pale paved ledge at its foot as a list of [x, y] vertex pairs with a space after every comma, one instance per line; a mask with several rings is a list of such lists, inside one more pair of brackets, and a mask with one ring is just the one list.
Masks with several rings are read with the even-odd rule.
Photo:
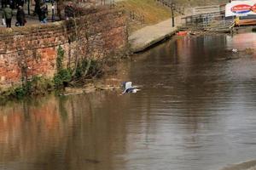
[[[172, 27], [171, 8], [154, 0], [125, 0], [117, 3], [125, 10], [131, 53], [137, 53], [157, 42], [172, 37], [177, 27]], [[175, 13], [177, 15], [177, 13]], [[181, 17], [175, 17], [175, 26], [180, 26]]]

